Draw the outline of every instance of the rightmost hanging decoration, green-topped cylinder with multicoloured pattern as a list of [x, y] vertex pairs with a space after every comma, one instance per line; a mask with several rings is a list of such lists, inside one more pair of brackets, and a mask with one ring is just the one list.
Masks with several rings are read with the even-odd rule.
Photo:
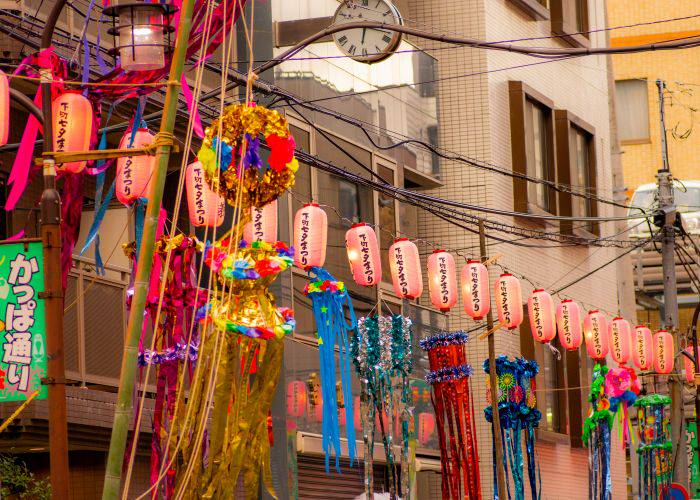
[[673, 478], [673, 445], [670, 439], [670, 418], [666, 408], [671, 398], [650, 394], [637, 399], [639, 426], [638, 487], [645, 500], [668, 498]]

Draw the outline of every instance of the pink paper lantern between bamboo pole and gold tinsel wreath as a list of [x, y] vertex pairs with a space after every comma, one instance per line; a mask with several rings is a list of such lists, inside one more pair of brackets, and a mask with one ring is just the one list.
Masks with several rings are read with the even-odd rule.
[[226, 201], [209, 187], [202, 163], [195, 161], [185, 171], [187, 207], [190, 222], [196, 227], [218, 227], [224, 221]]

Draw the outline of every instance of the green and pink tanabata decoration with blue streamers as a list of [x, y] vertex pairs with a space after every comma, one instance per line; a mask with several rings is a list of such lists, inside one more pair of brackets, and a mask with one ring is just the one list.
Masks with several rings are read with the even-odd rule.
[[612, 498], [610, 470], [611, 431], [618, 415], [620, 440], [623, 447], [630, 441], [628, 408], [634, 404], [640, 384], [634, 370], [625, 366], [608, 368], [596, 364], [593, 368], [591, 407], [583, 424], [583, 443], [588, 446], [588, 497]]

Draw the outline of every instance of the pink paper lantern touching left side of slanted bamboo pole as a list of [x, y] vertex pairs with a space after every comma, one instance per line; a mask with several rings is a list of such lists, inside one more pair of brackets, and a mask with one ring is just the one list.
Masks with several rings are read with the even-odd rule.
[[[153, 142], [154, 136], [148, 129], [140, 128], [134, 133], [124, 132], [119, 141], [119, 149], [142, 148]], [[139, 198], [148, 199], [156, 166], [156, 157], [149, 155], [122, 156], [117, 158], [117, 199], [124, 205], [131, 205]]]

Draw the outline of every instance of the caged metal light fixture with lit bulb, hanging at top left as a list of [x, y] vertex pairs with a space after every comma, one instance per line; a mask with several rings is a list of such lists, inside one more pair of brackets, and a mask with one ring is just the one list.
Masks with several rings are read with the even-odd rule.
[[170, 19], [176, 7], [167, 2], [105, 0], [104, 14], [117, 19], [109, 33], [114, 54], [124, 71], [149, 71], [165, 67], [170, 51]]

